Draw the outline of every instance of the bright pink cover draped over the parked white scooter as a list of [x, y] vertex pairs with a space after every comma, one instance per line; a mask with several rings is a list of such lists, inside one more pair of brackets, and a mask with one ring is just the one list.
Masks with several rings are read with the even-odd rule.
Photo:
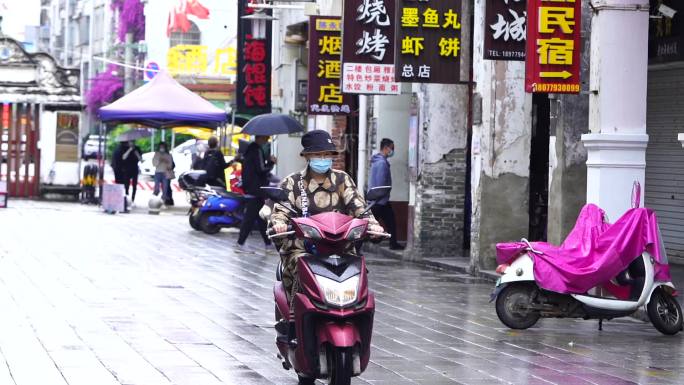
[[[604, 221], [604, 214], [594, 204], [585, 205], [563, 244], [530, 242], [541, 252], [529, 253], [540, 287], [558, 293], [586, 293], [625, 270], [643, 251], [656, 261], [655, 280], [670, 281], [667, 254], [655, 212], [633, 208], [612, 225]], [[511, 263], [527, 247], [524, 242], [498, 243], [497, 261]]]

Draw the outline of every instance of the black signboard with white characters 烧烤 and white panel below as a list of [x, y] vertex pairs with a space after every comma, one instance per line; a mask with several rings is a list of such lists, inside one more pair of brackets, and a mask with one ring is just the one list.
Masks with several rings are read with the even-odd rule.
[[395, 0], [345, 0], [342, 90], [401, 93], [394, 78]]

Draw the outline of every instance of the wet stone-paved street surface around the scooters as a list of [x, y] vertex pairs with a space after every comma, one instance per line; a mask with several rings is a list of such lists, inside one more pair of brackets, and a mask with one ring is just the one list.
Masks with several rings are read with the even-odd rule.
[[[277, 256], [176, 212], [0, 209], [0, 385], [296, 384], [276, 358]], [[253, 239], [256, 241], [256, 237]], [[369, 258], [372, 363], [355, 384], [682, 384], [684, 336], [544, 320], [513, 332], [490, 284]]]

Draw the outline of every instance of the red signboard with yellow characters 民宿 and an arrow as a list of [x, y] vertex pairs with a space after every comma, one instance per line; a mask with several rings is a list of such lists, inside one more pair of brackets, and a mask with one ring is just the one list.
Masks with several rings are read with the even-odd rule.
[[525, 91], [580, 92], [581, 0], [528, 0]]

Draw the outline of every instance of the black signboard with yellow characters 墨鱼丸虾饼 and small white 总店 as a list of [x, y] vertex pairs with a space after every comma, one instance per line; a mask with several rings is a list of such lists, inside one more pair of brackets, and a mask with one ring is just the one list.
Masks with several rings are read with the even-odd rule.
[[401, 82], [459, 81], [461, 0], [398, 0], [396, 71]]

